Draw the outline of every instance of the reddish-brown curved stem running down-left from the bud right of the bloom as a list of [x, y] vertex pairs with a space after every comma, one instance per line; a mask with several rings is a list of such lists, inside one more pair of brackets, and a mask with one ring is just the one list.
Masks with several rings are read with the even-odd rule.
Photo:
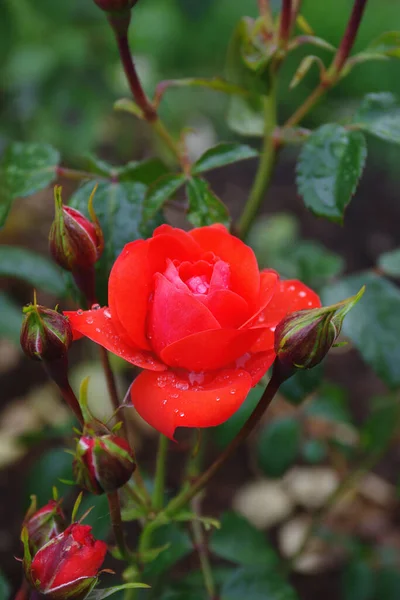
[[219, 471], [226, 460], [235, 452], [235, 450], [241, 445], [241, 443], [249, 436], [253, 431], [268, 406], [271, 404], [279, 386], [282, 383], [282, 378], [278, 373], [278, 370], [274, 367], [272, 377], [265, 388], [265, 391], [257, 404], [250, 417], [243, 425], [237, 436], [231, 441], [231, 443], [225, 448], [225, 450], [218, 456], [213, 464], [205, 471], [195, 483], [187, 490], [184, 490], [181, 494], [176, 496], [165, 509], [164, 514], [166, 516], [172, 516], [176, 511], [180, 510], [194, 498], [198, 492], [209, 482], [209, 480]]

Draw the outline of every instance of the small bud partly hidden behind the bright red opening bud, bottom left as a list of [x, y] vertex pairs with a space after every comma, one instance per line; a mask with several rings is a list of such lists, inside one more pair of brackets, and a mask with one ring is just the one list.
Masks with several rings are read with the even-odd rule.
[[24, 527], [28, 532], [29, 549], [34, 554], [64, 531], [66, 523], [60, 502], [50, 500], [46, 506], [36, 510], [36, 498], [34, 497], [25, 516]]

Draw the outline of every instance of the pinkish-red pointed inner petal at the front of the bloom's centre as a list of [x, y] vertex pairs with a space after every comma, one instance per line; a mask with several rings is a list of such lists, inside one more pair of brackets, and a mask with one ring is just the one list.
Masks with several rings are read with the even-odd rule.
[[154, 276], [154, 298], [148, 317], [148, 332], [157, 354], [181, 338], [221, 326], [202, 302], [177, 288], [160, 273]]

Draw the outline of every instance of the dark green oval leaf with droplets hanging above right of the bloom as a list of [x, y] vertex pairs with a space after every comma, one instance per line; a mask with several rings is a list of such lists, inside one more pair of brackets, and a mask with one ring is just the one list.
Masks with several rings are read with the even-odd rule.
[[357, 187], [367, 150], [359, 131], [328, 123], [305, 142], [297, 164], [297, 186], [308, 209], [331, 221], [343, 214]]

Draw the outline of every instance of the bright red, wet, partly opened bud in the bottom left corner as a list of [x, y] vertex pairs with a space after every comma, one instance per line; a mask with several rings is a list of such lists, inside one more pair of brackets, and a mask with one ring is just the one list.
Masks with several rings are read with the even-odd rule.
[[28, 580], [49, 600], [83, 600], [97, 582], [107, 545], [73, 523], [25, 561]]

